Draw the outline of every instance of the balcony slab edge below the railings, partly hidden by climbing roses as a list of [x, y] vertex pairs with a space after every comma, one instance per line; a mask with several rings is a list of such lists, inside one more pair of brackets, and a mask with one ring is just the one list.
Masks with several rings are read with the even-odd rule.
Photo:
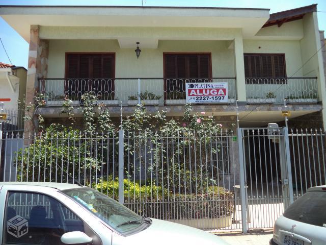
[[[106, 106], [110, 110], [112, 117], [120, 116], [120, 106]], [[184, 107], [179, 106], [146, 106], [148, 113], [154, 114], [158, 110], [166, 110], [167, 116], [182, 116]], [[124, 106], [123, 115], [130, 115], [133, 113], [134, 106]], [[322, 109], [321, 104], [289, 104], [286, 109], [282, 105], [239, 105], [238, 113], [239, 119], [242, 127], [246, 125], [261, 126], [265, 125], [265, 122], [278, 122], [284, 120], [284, 117], [281, 115], [282, 110], [291, 111], [291, 116], [289, 118], [294, 118], [297, 116], [302, 116], [305, 114], [313, 113], [320, 111]], [[61, 107], [41, 107], [38, 108], [37, 114], [41, 114], [46, 118], [58, 118], [58, 117], [67, 117], [66, 115], [61, 114]], [[236, 107], [235, 105], [193, 105], [193, 112], [199, 113], [205, 111], [205, 115], [214, 115], [214, 116], [233, 116], [234, 121], [236, 122]], [[250, 112], [250, 114], [248, 114]], [[73, 114], [75, 117], [82, 117], [82, 112], [75, 107]], [[233, 118], [232, 117], [232, 118]], [[241, 120], [243, 118], [243, 120]]]

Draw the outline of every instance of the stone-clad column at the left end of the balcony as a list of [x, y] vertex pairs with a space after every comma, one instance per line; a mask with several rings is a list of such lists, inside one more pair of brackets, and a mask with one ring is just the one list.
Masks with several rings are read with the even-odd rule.
[[[35, 92], [38, 91], [39, 78], [46, 78], [48, 61], [48, 41], [39, 38], [39, 26], [32, 25], [30, 31], [29, 62], [26, 81], [26, 105], [34, 104]], [[32, 115], [34, 112], [30, 112]], [[37, 120], [26, 121], [24, 126], [25, 136], [34, 133]]]

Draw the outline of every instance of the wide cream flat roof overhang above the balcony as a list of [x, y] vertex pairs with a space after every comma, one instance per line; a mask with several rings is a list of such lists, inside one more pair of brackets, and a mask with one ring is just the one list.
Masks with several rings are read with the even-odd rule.
[[[41, 27], [231, 28], [241, 29], [243, 37], [249, 38], [268, 20], [269, 9], [0, 6], [0, 16], [28, 42], [30, 26], [35, 24]], [[110, 36], [106, 38], [110, 39]], [[138, 39], [139, 36], [129, 37], [129, 40], [124, 39], [119, 43], [129, 47], [136, 40], [133, 38]], [[146, 40], [143, 42], [146, 43]], [[155, 46], [155, 42], [148, 40], [148, 46]]]

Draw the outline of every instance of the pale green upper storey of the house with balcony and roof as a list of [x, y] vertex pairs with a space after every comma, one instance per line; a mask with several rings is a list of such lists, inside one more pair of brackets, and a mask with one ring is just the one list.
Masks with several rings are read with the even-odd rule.
[[281, 111], [288, 110], [289, 124], [300, 118], [307, 124], [317, 116], [315, 123], [325, 128], [316, 11], [316, 5], [274, 14], [240, 8], [2, 6], [0, 16], [30, 43], [26, 102], [33, 101], [35, 90], [44, 94], [46, 106], [37, 113], [47, 123], [65, 121], [60, 111], [66, 96], [75, 116], [82, 117], [77, 107], [87, 91], [117, 119], [120, 105], [127, 115], [137, 103], [149, 113], [167, 110], [167, 116], [178, 117], [187, 83], [222, 82], [228, 100], [194, 104], [194, 112], [205, 111], [225, 125], [238, 116], [240, 127], [265, 127], [284, 121]]

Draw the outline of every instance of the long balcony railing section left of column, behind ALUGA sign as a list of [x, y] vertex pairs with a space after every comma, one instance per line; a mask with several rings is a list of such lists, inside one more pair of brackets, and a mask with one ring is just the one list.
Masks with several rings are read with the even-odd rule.
[[106, 105], [184, 105], [185, 84], [194, 82], [228, 83], [228, 104], [235, 104], [235, 78], [98, 78], [98, 79], [40, 79], [40, 92], [47, 106], [60, 106], [66, 96], [79, 105], [81, 96], [93, 91], [99, 103]]

